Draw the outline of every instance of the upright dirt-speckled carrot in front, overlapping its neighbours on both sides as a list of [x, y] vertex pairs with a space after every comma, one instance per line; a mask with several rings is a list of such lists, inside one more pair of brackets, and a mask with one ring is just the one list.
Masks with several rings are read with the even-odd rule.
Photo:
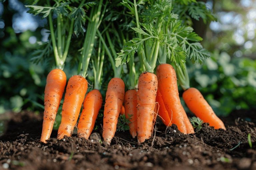
[[137, 131], [139, 142], [144, 142], [151, 136], [157, 84], [157, 77], [154, 73], [144, 72], [139, 77], [137, 92]]

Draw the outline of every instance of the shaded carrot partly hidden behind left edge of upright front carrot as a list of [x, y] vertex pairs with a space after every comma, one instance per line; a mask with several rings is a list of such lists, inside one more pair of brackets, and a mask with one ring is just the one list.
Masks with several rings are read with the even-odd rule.
[[136, 90], [128, 90], [124, 95], [124, 108], [125, 108], [125, 117], [128, 118], [131, 116], [130, 134], [134, 138], [137, 135], [137, 92]]

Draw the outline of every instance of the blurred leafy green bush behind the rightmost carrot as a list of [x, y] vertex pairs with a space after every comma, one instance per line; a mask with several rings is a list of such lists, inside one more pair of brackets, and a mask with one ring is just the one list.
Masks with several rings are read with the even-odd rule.
[[205, 64], [188, 66], [191, 87], [198, 88], [216, 114], [227, 116], [233, 110], [256, 108], [256, 61], [231, 58], [213, 51]]

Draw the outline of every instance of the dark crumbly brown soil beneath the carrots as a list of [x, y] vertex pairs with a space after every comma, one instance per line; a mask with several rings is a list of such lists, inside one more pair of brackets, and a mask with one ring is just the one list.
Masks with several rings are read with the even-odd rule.
[[158, 124], [161, 132], [142, 144], [137, 144], [128, 131], [117, 132], [110, 146], [75, 135], [57, 140], [56, 131], [44, 144], [39, 142], [42, 115], [24, 111], [11, 114], [8, 129], [0, 137], [0, 169], [255, 170], [255, 112], [236, 111], [222, 120], [227, 130], [203, 124], [200, 131], [188, 135], [175, 125], [166, 129]]

